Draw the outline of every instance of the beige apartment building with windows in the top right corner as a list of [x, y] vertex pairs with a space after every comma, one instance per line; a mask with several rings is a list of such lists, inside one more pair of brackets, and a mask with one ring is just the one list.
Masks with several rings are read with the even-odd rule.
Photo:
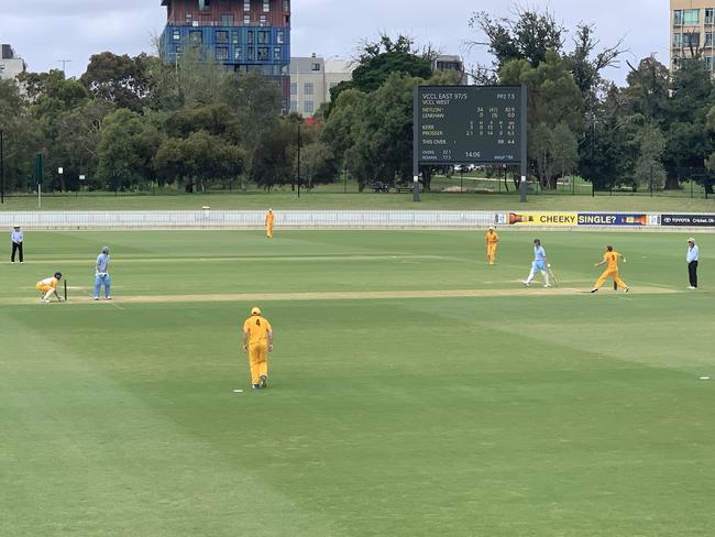
[[670, 0], [670, 69], [681, 58], [698, 56], [713, 70], [715, 0]]

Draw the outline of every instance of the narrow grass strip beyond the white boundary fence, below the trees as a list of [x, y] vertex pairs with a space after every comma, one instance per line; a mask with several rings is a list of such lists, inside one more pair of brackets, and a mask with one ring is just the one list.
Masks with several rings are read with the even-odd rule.
[[[529, 195], [527, 204], [512, 194], [422, 193], [420, 201], [411, 194], [338, 194], [316, 190], [251, 191], [249, 194], [194, 194], [174, 196], [86, 194], [43, 196], [41, 210], [560, 210], [560, 211], [652, 211], [713, 212], [715, 197], [649, 197], [619, 194], [608, 196]], [[0, 211], [38, 210], [33, 196], [7, 197]]]

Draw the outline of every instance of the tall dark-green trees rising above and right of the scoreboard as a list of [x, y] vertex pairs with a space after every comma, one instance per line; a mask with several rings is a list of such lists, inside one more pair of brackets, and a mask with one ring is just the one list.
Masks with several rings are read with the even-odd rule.
[[544, 188], [578, 173], [596, 189], [676, 189], [684, 179], [712, 193], [715, 94], [703, 51], [671, 73], [654, 56], [627, 63], [625, 87], [604, 76], [623, 42], [602, 46], [592, 24], [572, 30], [546, 11], [510, 18], [474, 13], [471, 28], [494, 56], [474, 76], [484, 84], [524, 84], [529, 91], [529, 160]]

